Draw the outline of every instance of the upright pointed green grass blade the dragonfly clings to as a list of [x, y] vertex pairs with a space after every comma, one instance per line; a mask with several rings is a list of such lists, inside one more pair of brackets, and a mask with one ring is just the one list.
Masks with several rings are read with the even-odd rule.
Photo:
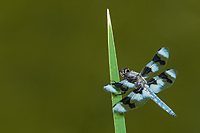
[[[108, 56], [109, 56], [109, 68], [110, 68], [110, 80], [119, 82], [119, 72], [118, 72], [118, 65], [117, 65], [117, 57], [115, 52], [115, 44], [114, 44], [114, 37], [112, 31], [112, 25], [110, 20], [110, 13], [109, 9], [107, 9], [107, 23], [108, 23]], [[112, 105], [122, 99], [122, 96], [117, 96], [115, 98], [112, 95]], [[114, 119], [114, 126], [115, 126], [115, 133], [126, 133], [126, 125], [124, 114], [115, 114], [113, 113]]]

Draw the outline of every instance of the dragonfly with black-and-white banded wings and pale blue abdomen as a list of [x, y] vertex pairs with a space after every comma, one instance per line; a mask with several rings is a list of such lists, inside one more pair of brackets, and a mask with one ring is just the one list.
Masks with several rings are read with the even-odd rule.
[[[168, 59], [169, 48], [162, 47], [140, 73], [133, 70], [130, 71], [127, 67], [120, 69], [119, 74], [123, 80], [120, 82], [111, 81], [111, 84], [107, 84], [103, 88], [105, 91], [112, 92], [116, 96], [126, 94], [127, 92], [130, 93], [117, 102], [112, 110], [115, 113], [124, 113], [141, 107], [151, 99], [167, 113], [177, 117], [172, 109], [156, 95], [156, 93], [169, 88], [174, 83], [178, 73], [177, 70], [167, 69], [158, 76], [150, 78], [154, 73], [165, 67]], [[120, 90], [120, 94], [118, 90]]]

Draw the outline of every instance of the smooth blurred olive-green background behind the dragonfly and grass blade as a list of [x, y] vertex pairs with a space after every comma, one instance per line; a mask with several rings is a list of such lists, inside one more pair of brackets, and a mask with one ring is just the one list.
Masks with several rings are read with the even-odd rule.
[[200, 1], [0, 1], [0, 132], [113, 133], [106, 9], [119, 68], [170, 48], [174, 85], [127, 112], [127, 133], [199, 133]]

